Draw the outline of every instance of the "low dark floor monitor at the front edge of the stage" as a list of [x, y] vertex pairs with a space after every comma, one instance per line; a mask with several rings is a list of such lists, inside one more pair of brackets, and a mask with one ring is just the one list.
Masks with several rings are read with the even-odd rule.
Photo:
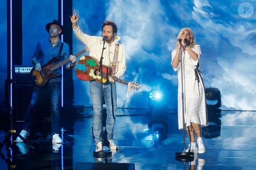
[[135, 170], [134, 163], [77, 163], [75, 170]]

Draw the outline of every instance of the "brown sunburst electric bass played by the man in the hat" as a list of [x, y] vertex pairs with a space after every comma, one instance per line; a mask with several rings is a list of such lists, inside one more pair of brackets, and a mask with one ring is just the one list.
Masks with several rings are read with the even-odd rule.
[[[88, 49], [84, 49], [81, 52], [76, 53], [74, 56], [77, 57], [87, 51]], [[35, 67], [31, 69], [30, 74], [31, 74], [31, 78], [34, 85], [38, 87], [44, 86], [51, 78], [55, 78], [59, 76], [59, 74], [53, 73], [54, 70], [56, 70], [57, 68], [63, 66], [68, 62], [71, 62], [71, 60], [68, 58], [61, 61], [60, 63], [54, 64], [58, 59], [59, 59], [58, 57], [54, 57], [53, 59], [50, 59], [48, 63], [46, 63], [41, 67], [42, 68], [41, 71], [35, 70]]]

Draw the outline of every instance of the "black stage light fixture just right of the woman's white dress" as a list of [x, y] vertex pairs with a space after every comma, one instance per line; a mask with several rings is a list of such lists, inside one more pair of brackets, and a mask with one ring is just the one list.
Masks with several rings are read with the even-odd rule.
[[205, 89], [205, 99], [207, 104], [207, 111], [219, 112], [221, 107], [221, 94], [217, 88], [207, 88]]

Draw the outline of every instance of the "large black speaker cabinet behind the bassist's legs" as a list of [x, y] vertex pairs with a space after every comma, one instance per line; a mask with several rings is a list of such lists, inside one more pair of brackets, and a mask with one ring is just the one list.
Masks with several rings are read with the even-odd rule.
[[[34, 85], [13, 84], [12, 111], [13, 120], [15, 122], [24, 122], [26, 109], [31, 100]], [[52, 113], [50, 108], [49, 93], [45, 94], [45, 99], [38, 106], [36, 114], [34, 114], [34, 122], [51, 122]]]

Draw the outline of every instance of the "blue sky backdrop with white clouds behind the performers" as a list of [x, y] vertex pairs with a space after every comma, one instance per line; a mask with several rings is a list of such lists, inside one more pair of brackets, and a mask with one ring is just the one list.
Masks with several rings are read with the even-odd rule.
[[[37, 41], [48, 36], [45, 24], [57, 18], [55, 7], [49, 10], [49, 4], [57, 4], [57, 0], [26, 1], [23, 0], [25, 65], [30, 64]], [[102, 36], [104, 20], [117, 23], [117, 35], [127, 58], [122, 79], [143, 84], [128, 98], [127, 86], [118, 84], [118, 107], [147, 107], [149, 92], [162, 89], [169, 108], [177, 108], [177, 72], [170, 65], [170, 54], [176, 48], [181, 28], [190, 27], [196, 44], [201, 45], [205, 87], [221, 91], [222, 109], [256, 110], [255, 0], [74, 0], [73, 8], [80, 17], [79, 26], [89, 35]], [[31, 15], [33, 20], [28, 18]], [[1, 35], [6, 31], [4, 24], [1, 22]], [[74, 53], [85, 48], [73, 38]], [[0, 48], [4, 51], [4, 46]], [[74, 104], [91, 106], [89, 82], [79, 80], [75, 73], [73, 80]]]

